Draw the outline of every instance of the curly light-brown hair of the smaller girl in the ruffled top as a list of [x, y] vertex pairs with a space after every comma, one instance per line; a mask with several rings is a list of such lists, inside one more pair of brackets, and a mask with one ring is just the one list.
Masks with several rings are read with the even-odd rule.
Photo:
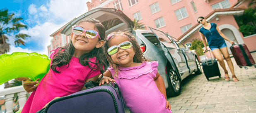
[[[137, 42], [137, 40], [135, 39], [135, 37], [133, 35], [131, 35], [128, 31], [118, 31], [118, 32], [112, 32], [114, 35], [111, 36], [111, 38], [114, 38], [118, 35], [124, 35], [126, 36], [127, 38], [130, 38], [128, 39], [132, 44], [133, 44], [133, 50], [135, 52], [135, 55], [133, 57], [133, 62], [138, 62], [138, 63], [141, 63], [143, 61], [149, 61], [148, 59], [146, 59], [144, 56], [143, 56], [143, 52], [141, 51], [140, 49], [140, 45], [139, 43]], [[109, 41], [111, 40], [111, 38], [109, 38], [108, 40], [105, 39], [105, 43], [104, 43], [104, 48], [105, 48], [105, 52], [107, 53], [107, 49], [109, 49]], [[109, 61], [109, 64], [114, 68], [115, 70], [115, 75], [114, 77], [117, 77], [118, 76], [118, 66], [119, 64], [116, 64], [114, 63], [114, 61], [111, 59], [111, 56], [109, 54], [106, 54], [106, 57]]]

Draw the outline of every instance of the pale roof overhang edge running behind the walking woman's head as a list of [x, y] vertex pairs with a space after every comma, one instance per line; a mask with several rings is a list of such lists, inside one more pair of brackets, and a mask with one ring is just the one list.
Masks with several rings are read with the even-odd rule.
[[[236, 10], [236, 11], [218, 11], [215, 10], [213, 14], [205, 17], [206, 21], [211, 21], [212, 19], [214, 19], [216, 16], [223, 16], [223, 15], [242, 15], [244, 14], [244, 9], [239, 8], [241, 10]], [[219, 9], [220, 10], [220, 9]], [[222, 9], [223, 10], [223, 9]], [[178, 39], [180, 41], [185, 40], [186, 38], [189, 38], [191, 35], [193, 35], [196, 31], [198, 31], [200, 28], [202, 27], [202, 24], [196, 24], [195, 26], [192, 27], [191, 30], [186, 31], [183, 35], [181, 35], [181, 37], [179, 37]]]

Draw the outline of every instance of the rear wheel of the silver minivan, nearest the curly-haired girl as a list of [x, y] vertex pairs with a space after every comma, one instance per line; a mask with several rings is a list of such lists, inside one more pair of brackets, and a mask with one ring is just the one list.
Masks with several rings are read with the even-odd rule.
[[181, 79], [179, 75], [172, 69], [167, 71], [168, 88], [166, 94], [169, 97], [174, 97], [181, 94]]

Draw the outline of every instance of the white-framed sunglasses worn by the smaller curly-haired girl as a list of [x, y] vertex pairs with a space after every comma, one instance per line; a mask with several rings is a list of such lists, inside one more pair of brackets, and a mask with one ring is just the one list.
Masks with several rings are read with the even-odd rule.
[[118, 51], [118, 47], [121, 48], [121, 49], [129, 49], [131, 47], [133, 47], [133, 44], [129, 41], [126, 41], [126, 42], [122, 42], [121, 44], [119, 45], [114, 45], [114, 46], [111, 46], [109, 47], [109, 49], [107, 50], [108, 54], [109, 55], [112, 55], [112, 54], [115, 54], [117, 51]]

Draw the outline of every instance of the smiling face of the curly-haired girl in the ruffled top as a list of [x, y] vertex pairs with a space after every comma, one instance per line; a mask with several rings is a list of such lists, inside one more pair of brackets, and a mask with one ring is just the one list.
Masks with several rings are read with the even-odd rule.
[[[117, 35], [109, 41], [109, 47], [114, 45], [119, 45], [122, 42], [130, 41], [125, 35]], [[134, 65], [133, 57], [135, 52], [133, 47], [129, 49], [120, 49], [118, 47], [118, 51], [115, 54], [111, 55], [111, 59], [114, 63], [119, 64], [121, 67], [132, 67]]]

